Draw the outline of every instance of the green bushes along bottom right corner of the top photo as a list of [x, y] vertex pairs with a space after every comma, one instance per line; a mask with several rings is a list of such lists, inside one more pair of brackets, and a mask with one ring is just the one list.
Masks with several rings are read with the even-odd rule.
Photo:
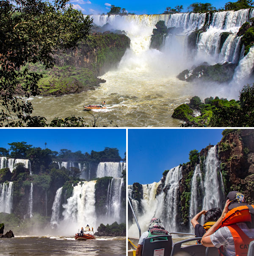
[[[174, 109], [172, 117], [186, 121], [188, 127], [253, 127], [254, 126], [254, 85], [247, 84], [240, 92], [240, 101], [207, 98], [207, 104], [198, 108], [200, 115], [194, 117], [189, 106], [182, 104]], [[182, 110], [182, 106], [184, 109]], [[181, 110], [181, 112], [179, 111]], [[188, 112], [186, 111], [188, 110]], [[178, 114], [180, 113], [180, 114]]]

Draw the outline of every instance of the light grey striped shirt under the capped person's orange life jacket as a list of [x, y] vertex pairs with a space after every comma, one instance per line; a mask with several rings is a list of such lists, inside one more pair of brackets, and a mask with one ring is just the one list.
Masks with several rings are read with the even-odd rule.
[[[246, 223], [237, 223], [237, 226], [250, 238], [254, 238], [254, 228], [248, 228]], [[216, 248], [223, 245], [224, 253], [227, 256], [235, 256], [235, 243], [229, 228], [219, 228], [214, 234], [210, 235], [211, 242]]]

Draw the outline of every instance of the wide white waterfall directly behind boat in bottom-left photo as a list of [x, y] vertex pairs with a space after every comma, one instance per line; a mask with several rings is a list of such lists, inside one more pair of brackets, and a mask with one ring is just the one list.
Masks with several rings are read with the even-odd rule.
[[63, 204], [63, 223], [68, 231], [77, 232], [78, 228], [86, 224], [97, 228], [95, 183], [96, 181], [80, 182], [73, 187], [72, 196], [67, 199], [67, 203]]

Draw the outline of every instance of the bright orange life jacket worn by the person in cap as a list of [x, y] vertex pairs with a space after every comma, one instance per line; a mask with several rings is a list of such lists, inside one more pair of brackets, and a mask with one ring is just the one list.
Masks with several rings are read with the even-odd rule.
[[[247, 256], [248, 246], [254, 238], [248, 237], [236, 223], [246, 222], [249, 228], [254, 228], [254, 205], [238, 206], [230, 210], [222, 220], [221, 226], [228, 227], [235, 243], [235, 255]], [[222, 255], [221, 250], [219, 250]]]

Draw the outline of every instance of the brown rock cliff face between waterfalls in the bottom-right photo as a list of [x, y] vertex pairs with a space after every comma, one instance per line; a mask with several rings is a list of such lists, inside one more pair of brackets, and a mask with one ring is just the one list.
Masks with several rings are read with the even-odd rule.
[[[224, 198], [228, 192], [237, 190], [242, 192], [247, 200], [247, 203], [254, 203], [254, 129], [225, 129], [223, 138], [216, 145], [215, 152], [218, 159], [219, 168], [217, 168], [218, 177], [222, 177], [224, 184]], [[179, 180], [177, 202], [177, 223], [179, 231], [188, 231], [190, 201], [191, 201], [191, 180], [197, 164], [204, 182], [205, 176], [205, 159], [207, 159], [208, 151], [213, 147], [209, 145], [198, 153], [196, 161], [191, 161], [186, 164], [180, 164], [182, 178]], [[170, 186], [165, 184], [168, 170], [163, 173], [160, 180], [160, 185], [157, 187], [157, 194], [167, 194]], [[199, 188], [200, 189], [200, 188]], [[197, 205], [202, 206], [203, 201], [202, 191], [198, 192], [199, 197], [195, 198]], [[131, 193], [129, 192], [131, 195]], [[142, 186], [138, 183], [133, 184], [133, 199], [136, 195], [136, 200], [143, 198]], [[224, 202], [222, 202], [224, 205]], [[129, 209], [128, 209], [129, 210]], [[200, 209], [201, 210], [201, 209]], [[140, 210], [142, 212], [142, 209]], [[129, 213], [129, 216], [130, 215]], [[130, 221], [130, 220], [129, 220]]]

